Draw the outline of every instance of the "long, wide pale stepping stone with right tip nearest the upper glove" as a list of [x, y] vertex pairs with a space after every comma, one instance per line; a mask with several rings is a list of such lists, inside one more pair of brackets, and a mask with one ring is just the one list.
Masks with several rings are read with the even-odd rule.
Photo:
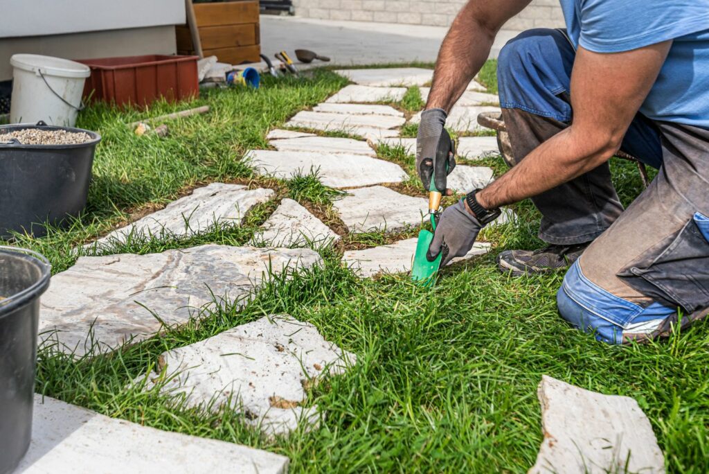
[[369, 186], [381, 182], [402, 182], [408, 175], [401, 166], [365, 155], [301, 151], [252, 150], [247, 153], [259, 175], [289, 180], [294, 175], [317, 171], [328, 187]]

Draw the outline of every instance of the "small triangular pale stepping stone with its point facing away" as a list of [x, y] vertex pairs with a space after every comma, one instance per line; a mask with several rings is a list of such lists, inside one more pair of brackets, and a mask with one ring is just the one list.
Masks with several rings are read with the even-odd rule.
[[283, 199], [278, 209], [262, 224], [252, 243], [264, 242], [274, 247], [326, 245], [340, 239], [308, 209], [293, 199]]

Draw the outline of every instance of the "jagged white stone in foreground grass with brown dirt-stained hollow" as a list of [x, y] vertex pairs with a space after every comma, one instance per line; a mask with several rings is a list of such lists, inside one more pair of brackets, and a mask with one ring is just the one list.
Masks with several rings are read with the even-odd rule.
[[306, 387], [322, 375], [344, 373], [355, 361], [312, 324], [272, 314], [162, 353], [146, 388], [160, 382], [164, 368], [174, 377], [161, 392], [184, 394], [192, 407], [214, 401], [216, 410], [230, 403], [266, 434], [286, 434], [299, 423], [318, 424], [318, 407], [303, 406]]

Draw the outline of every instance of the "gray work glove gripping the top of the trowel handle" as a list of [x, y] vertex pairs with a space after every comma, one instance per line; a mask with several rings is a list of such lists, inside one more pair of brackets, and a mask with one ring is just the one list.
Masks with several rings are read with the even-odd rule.
[[[431, 175], [435, 170], [436, 188], [444, 195], [447, 184], [446, 177], [455, 167], [453, 153], [450, 153], [444, 160], [436, 159], [436, 150], [443, 135], [446, 117], [447, 114], [443, 109], [423, 111], [421, 123], [418, 124], [418, 136], [416, 136], [416, 171], [423, 182], [423, 188], [425, 191], [429, 190]], [[447, 136], [447, 133], [445, 135]]]

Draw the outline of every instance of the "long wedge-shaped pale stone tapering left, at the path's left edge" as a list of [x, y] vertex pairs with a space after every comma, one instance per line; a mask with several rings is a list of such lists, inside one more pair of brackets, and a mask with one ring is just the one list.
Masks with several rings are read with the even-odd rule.
[[239, 225], [253, 206], [267, 202], [273, 196], [271, 189], [247, 189], [240, 184], [214, 182], [198, 187], [189, 196], [167, 204], [160, 211], [111, 231], [84, 248], [101, 250], [125, 243], [131, 237], [189, 236], [206, 231], [214, 224]]

